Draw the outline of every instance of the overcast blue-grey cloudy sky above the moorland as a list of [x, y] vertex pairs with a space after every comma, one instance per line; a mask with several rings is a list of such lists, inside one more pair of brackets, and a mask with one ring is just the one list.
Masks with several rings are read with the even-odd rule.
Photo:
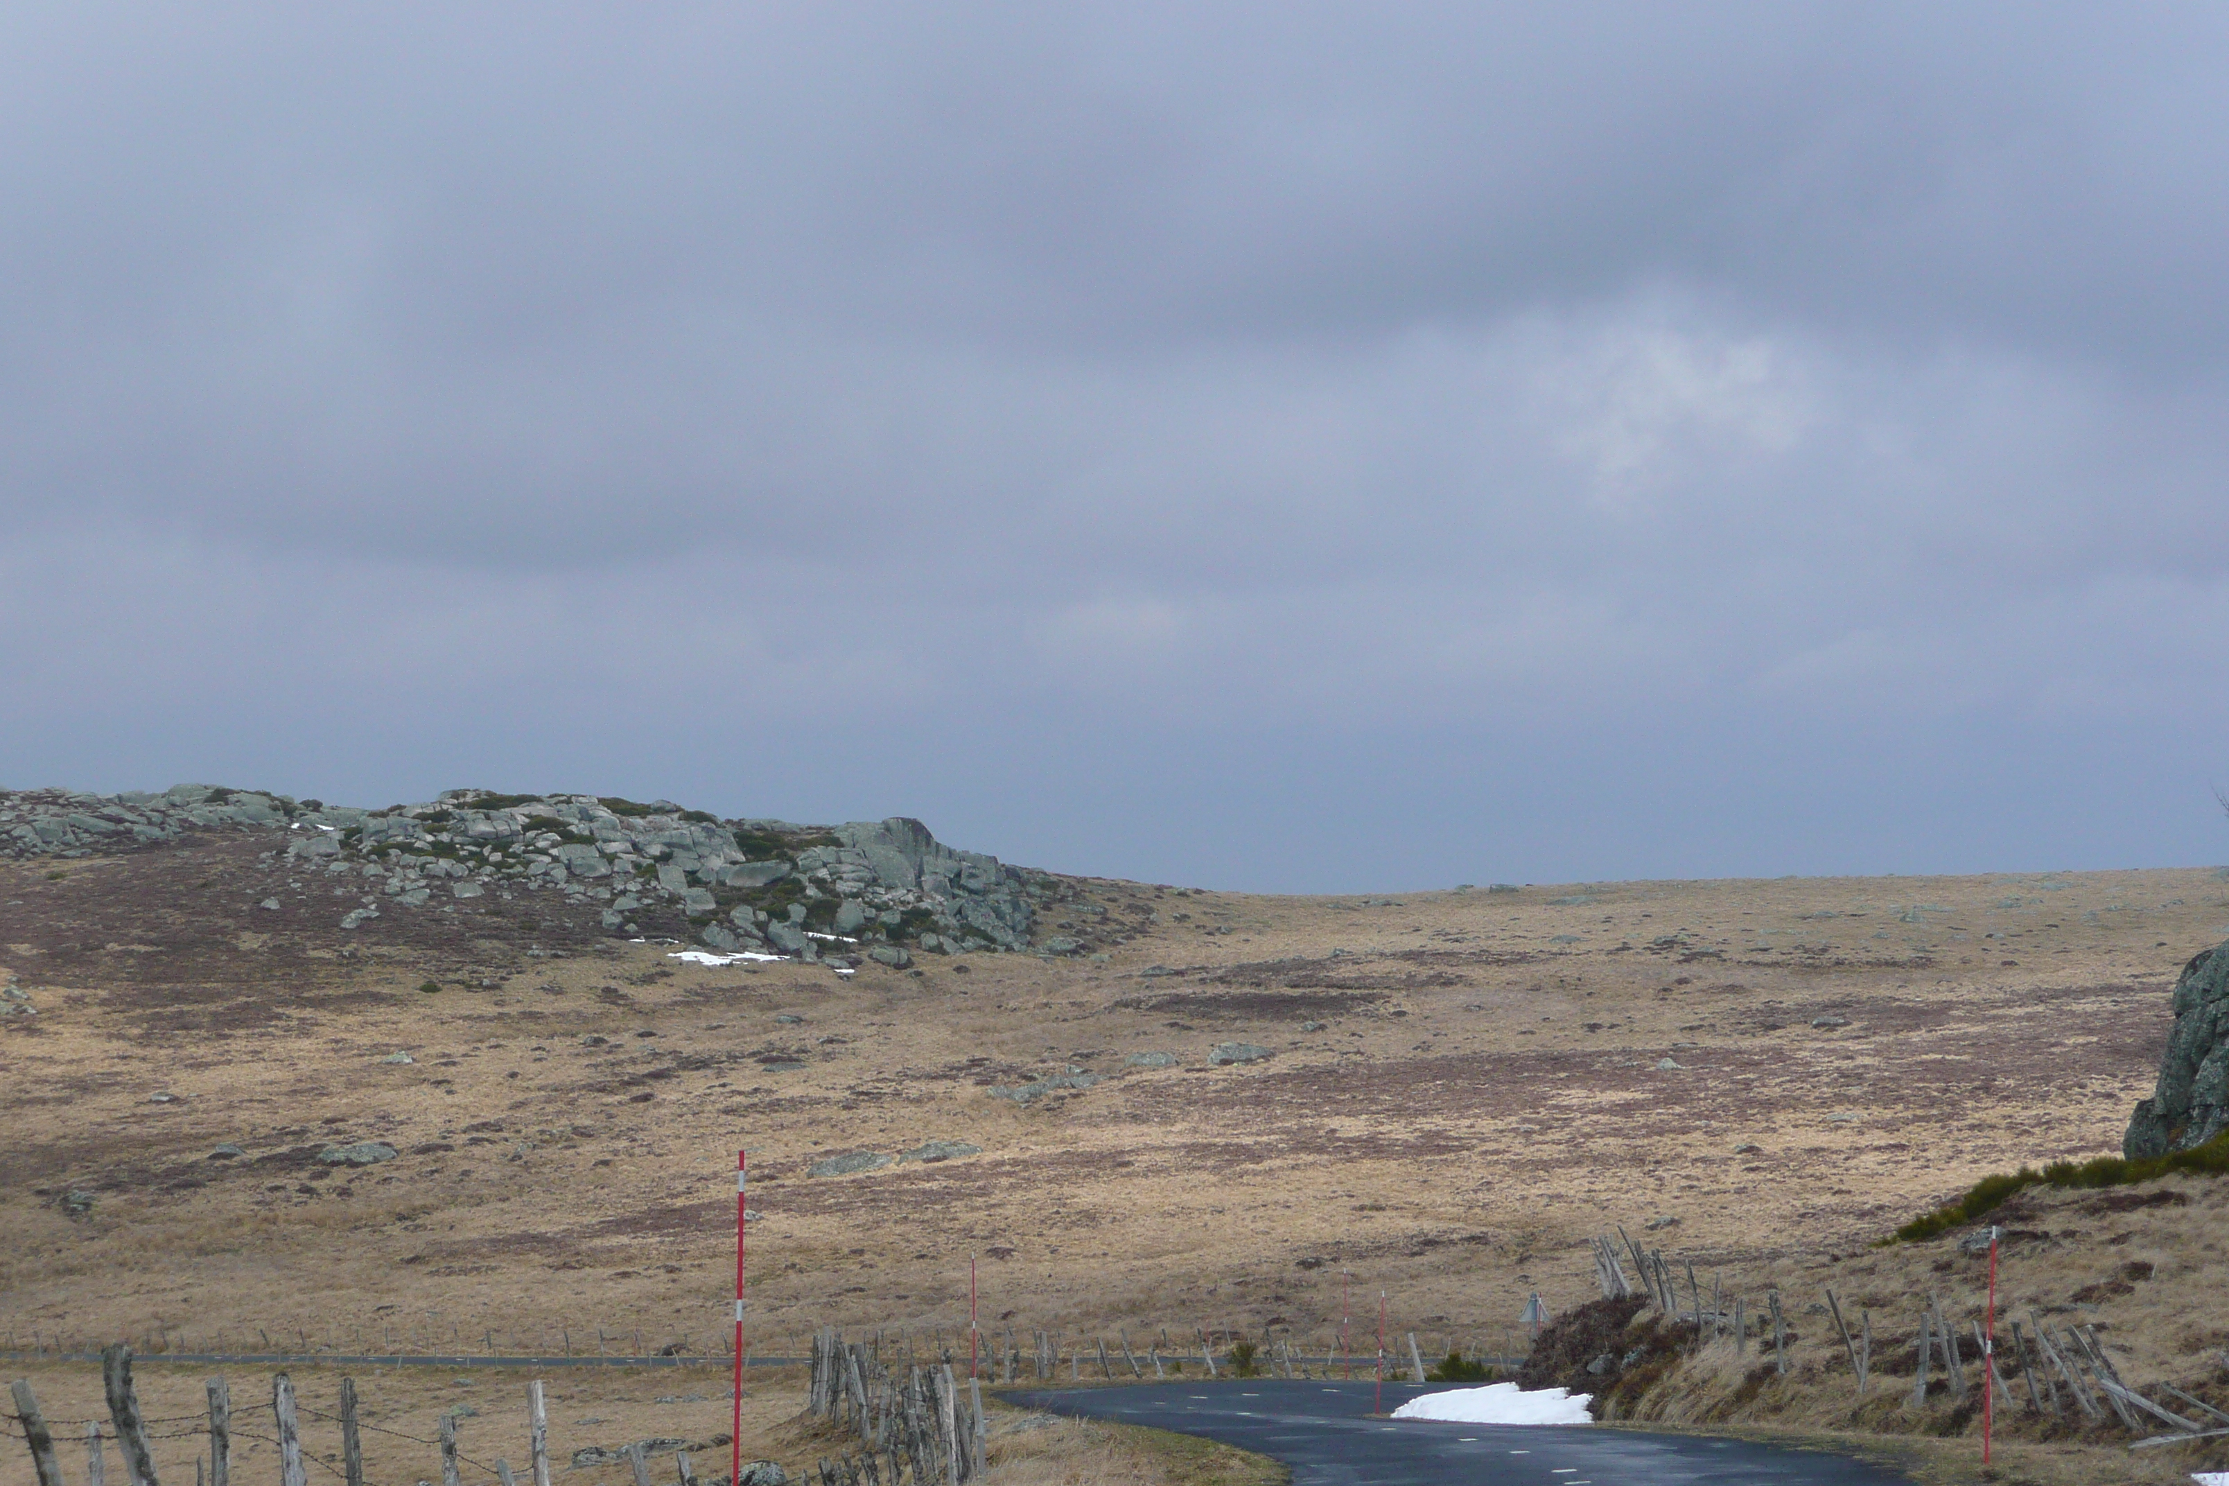
[[2229, 11], [0, 13], [0, 782], [2229, 860]]

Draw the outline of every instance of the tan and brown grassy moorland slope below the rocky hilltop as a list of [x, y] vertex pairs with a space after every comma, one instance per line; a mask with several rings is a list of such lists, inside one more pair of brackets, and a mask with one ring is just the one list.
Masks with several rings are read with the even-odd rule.
[[[1614, 1225], [1752, 1297], [1906, 1265], [1888, 1330], [1970, 1263], [1866, 1245], [1982, 1174], [2115, 1152], [2176, 971], [2229, 938], [2211, 869], [1333, 898], [1039, 876], [1030, 933], [1063, 954], [845, 976], [675, 960], [531, 893], [341, 929], [270, 847], [0, 862], [0, 982], [31, 1007], [0, 1018], [0, 1343], [704, 1355], [738, 1147], [760, 1355], [823, 1323], [952, 1346], [970, 1261], [985, 1332], [1025, 1350], [1273, 1328], [1320, 1352], [1351, 1310], [1373, 1352], [1384, 1292], [1427, 1352], [1500, 1352], [1529, 1292], [1598, 1297]], [[932, 1141], [976, 1152], [809, 1174]], [[350, 1143], [395, 1156], [321, 1156]], [[2229, 1326], [2218, 1285], [2169, 1283], [2222, 1263], [2184, 1185], [2187, 1212], [2129, 1219], [2044, 1201], [2062, 1241], [2008, 1254], [2008, 1299], [2158, 1248], [2109, 1248], [2115, 1223], [2189, 1223], [2100, 1314], [2142, 1339], [2131, 1381], [2196, 1381], [2176, 1368]], [[718, 1395], [684, 1412], [671, 1433], [724, 1426]]]

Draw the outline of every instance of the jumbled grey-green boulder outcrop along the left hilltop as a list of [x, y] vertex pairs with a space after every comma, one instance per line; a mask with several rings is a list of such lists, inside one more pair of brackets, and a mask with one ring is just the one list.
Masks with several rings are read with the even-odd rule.
[[343, 929], [488, 893], [551, 893], [600, 907], [609, 933], [635, 936], [637, 918], [655, 916], [731, 954], [860, 949], [905, 965], [914, 951], [1023, 949], [1034, 902], [1052, 891], [1045, 873], [954, 851], [907, 818], [802, 827], [669, 800], [477, 789], [381, 811], [207, 784], [0, 791], [0, 856], [103, 856], [205, 831], [270, 833], [265, 858], [294, 882], [348, 889]]

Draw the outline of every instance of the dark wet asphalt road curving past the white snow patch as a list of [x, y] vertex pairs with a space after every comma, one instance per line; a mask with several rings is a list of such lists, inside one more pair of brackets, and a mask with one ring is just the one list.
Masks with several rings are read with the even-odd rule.
[[[1059, 1415], [1206, 1435], [1282, 1459], [1293, 1486], [1910, 1486], [1843, 1455], [1600, 1426], [1431, 1424], [1371, 1417], [1373, 1384], [1228, 1381], [1019, 1395]], [[1386, 1384], [1391, 1412], [1438, 1388]]]

